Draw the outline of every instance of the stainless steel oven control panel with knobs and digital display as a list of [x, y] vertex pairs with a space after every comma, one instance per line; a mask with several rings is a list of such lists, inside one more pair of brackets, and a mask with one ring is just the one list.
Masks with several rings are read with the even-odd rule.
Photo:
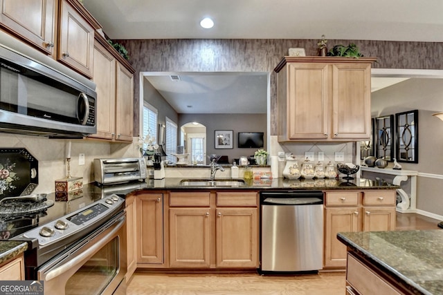
[[24, 237], [37, 238], [41, 247], [49, 245], [81, 231], [93, 230], [119, 211], [123, 211], [124, 207], [125, 199], [113, 194], [53, 222], [27, 231]]

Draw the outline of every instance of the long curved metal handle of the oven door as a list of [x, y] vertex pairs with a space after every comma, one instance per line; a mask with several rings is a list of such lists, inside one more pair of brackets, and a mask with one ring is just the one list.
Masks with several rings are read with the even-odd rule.
[[[108, 242], [110, 242], [117, 232], [125, 225], [126, 216], [120, 217], [116, 222], [119, 222], [118, 225], [114, 226], [114, 229], [109, 231], [109, 233], [101, 238], [98, 242], [94, 243], [91, 247], [89, 247], [84, 252], [80, 253], [78, 256], [75, 256], [71, 260], [69, 260], [67, 263], [63, 263], [60, 265], [60, 267], [57, 267], [55, 269], [50, 270], [44, 275], [44, 280], [52, 280], [53, 278], [57, 278], [57, 276], [60, 276], [64, 274], [64, 272], [67, 272], [72, 267], [75, 267], [75, 265], [78, 265], [78, 263], [81, 263], [82, 260], [88, 258], [89, 256], [92, 256], [96, 253], [96, 251], [100, 250], [102, 247], [104, 247]], [[93, 240], [93, 239], [92, 239]], [[91, 242], [91, 240], [89, 241]]]

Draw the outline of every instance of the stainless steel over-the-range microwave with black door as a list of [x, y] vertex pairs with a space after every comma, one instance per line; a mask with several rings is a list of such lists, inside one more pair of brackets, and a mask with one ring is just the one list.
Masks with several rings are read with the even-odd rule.
[[37, 60], [12, 49], [0, 37], [0, 132], [66, 138], [96, 133], [95, 84], [45, 64], [51, 57]]

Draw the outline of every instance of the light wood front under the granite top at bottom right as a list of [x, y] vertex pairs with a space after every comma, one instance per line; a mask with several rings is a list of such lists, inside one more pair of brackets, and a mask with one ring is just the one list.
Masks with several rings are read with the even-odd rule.
[[358, 294], [400, 295], [394, 286], [363, 265], [354, 256], [347, 255], [346, 280]]

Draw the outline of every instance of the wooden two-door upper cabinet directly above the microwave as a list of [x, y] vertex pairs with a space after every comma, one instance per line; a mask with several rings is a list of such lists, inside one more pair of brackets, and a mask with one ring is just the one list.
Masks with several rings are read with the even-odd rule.
[[100, 24], [78, 0], [0, 0], [0, 26], [91, 78]]

